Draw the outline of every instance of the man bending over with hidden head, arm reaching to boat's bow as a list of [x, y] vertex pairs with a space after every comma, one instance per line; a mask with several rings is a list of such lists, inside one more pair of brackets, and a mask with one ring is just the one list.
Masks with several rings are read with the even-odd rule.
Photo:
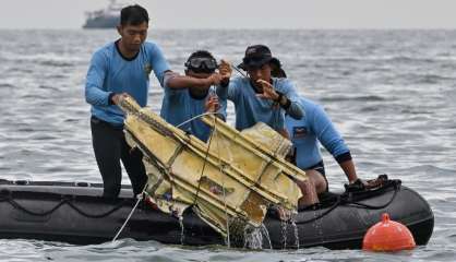
[[327, 191], [327, 180], [319, 141], [334, 156], [350, 183], [358, 180], [353, 160], [343, 138], [324, 109], [312, 100], [300, 97], [304, 117], [296, 120], [286, 117], [287, 130], [293, 144], [296, 165], [303, 169], [309, 180], [301, 184], [304, 198], [300, 206], [319, 203], [317, 194]]

